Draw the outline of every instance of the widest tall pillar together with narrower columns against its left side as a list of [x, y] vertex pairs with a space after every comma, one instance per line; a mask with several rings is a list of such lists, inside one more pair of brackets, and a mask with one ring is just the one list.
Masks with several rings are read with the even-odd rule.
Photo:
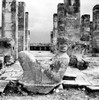
[[[57, 38], [57, 42], [55, 44], [57, 45], [56, 51], [60, 48], [60, 44], [65, 47], [67, 45], [68, 39], [70, 39], [71, 41], [79, 40], [80, 1], [64, 0], [64, 3], [59, 3], [57, 6], [57, 22], [54, 22], [54, 24], [55, 23], [57, 23], [57, 35], [54, 36], [55, 29], [53, 28], [53, 39]], [[61, 49], [64, 48], [62, 47]]]

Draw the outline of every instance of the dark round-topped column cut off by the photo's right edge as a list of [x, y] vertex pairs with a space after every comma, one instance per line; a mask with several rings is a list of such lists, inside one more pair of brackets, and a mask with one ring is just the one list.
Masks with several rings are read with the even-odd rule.
[[99, 5], [93, 8], [93, 49], [99, 52]]

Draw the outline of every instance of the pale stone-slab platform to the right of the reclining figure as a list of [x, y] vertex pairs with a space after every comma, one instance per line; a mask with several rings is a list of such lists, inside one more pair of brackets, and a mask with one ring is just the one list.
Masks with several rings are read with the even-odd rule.
[[[63, 80], [63, 85], [85, 86], [91, 90], [99, 90], [99, 57], [86, 57], [90, 62], [88, 69], [80, 71], [77, 68], [68, 67]], [[74, 79], [71, 80], [71, 77]]]

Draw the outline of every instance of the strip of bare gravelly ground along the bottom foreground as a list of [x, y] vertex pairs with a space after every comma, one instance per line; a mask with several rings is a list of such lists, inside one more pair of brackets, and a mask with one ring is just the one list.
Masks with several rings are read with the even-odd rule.
[[0, 100], [99, 100], [99, 92], [85, 94], [85, 91], [69, 89], [60, 90], [59, 93], [48, 95], [31, 95], [31, 96], [1, 96]]

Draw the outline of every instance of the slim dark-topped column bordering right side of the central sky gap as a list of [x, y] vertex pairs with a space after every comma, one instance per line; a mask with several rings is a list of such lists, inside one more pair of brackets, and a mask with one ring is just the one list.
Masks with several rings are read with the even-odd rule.
[[57, 27], [58, 17], [55, 13], [53, 15], [53, 52], [57, 52], [57, 35], [58, 35], [58, 27]]

